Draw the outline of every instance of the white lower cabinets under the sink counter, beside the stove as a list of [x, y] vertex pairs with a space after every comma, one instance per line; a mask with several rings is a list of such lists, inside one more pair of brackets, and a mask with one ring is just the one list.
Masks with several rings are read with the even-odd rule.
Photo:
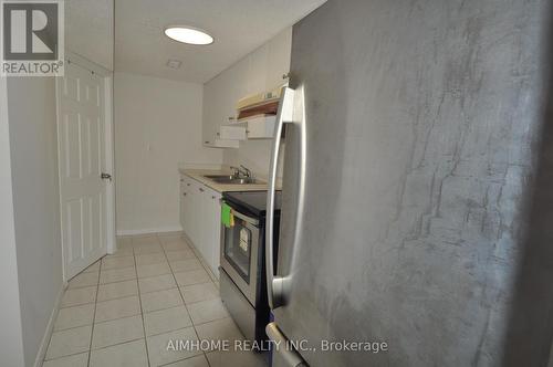
[[221, 193], [187, 176], [180, 182], [180, 222], [213, 274], [219, 276]]

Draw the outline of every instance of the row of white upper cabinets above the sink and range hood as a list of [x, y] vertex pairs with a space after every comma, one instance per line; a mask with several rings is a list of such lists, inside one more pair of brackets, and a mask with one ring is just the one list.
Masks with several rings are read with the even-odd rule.
[[[272, 90], [285, 82], [282, 75], [290, 71], [291, 48], [292, 29], [289, 28], [205, 84], [205, 146], [225, 145], [226, 141], [218, 141], [221, 140], [220, 127], [233, 122], [240, 98]], [[233, 147], [238, 147], [238, 141]]]

